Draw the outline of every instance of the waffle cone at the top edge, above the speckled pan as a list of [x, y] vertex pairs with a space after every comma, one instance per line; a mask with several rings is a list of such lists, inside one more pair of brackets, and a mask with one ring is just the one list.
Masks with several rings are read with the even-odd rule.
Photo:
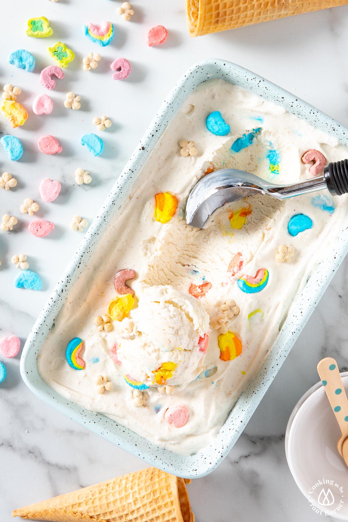
[[347, 4], [348, 0], [186, 0], [191, 37]]

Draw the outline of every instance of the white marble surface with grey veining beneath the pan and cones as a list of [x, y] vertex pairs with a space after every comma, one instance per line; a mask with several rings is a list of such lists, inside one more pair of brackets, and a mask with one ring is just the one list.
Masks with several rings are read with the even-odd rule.
[[[136, 14], [131, 22], [116, 15], [120, 4], [115, 0], [13, 0], [2, 8], [8, 18], [1, 31], [0, 84], [20, 86], [23, 93], [18, 101], [30, 109], [26, 125], [13, 132], [25, 147], [22, 160], [10, 163], [0, 150], [2, 172], [9, 171], [18, 180], [10, 192], [1, 189], [0, 214], [8, 212], [19, 218], [16, 231], [0, 234], [0, 328], [1, 335], [19, 336], [21, 346], [81, 240], [80, 233], [68, 228], [71, 218], [79, 214], [92, 221], [167, 92], [193, 63], [208, 57], [234, 61], [348, 125], [348, 7], [191, 40], [186, 30], [184, 0], [135, 0]], [[27, 38], [26, 21], [40, 15], [49, 18], [53, 37]], [[109, 47], [100, 51], [103, 58], [98, 69], [83, 73], [83, 56], [97, 51], [97, 46], [83, 37], [81, 24], [104, 19], [115, 22], [116, 36]], [[157, 24], [165, 25], [170, 35], [161, 48], [151, 49], [146, 45], [146, 34]], [[71, 46], [76, 60], [67, 69], [66, 79], [57, 81], [52, 91], [54, 112], [35, 117], [31, 112], [34, 94], [44, 92], [39, 72], [52, 63], [46, 55], [47, 42], [54, 44], [57, 40]], [[8, 53], [18, 48], [26, 48], [37, 58], [34, 73], [7, 63]], [[119, 56], [128, 58], [133, 66], [125, 82], [111, 79], [109, 64]], [[70, 90], [81, 96], [79, 111], [68, 111], [63, 106], [65, 93]], [[102, 134], [105, 153], [93, 158], [78, 141], [83, 133], [93, 132], [92, 118], [104, 113], [113, 126]], [[0, 130], [6, 134], [6, 121], [3, 117], [0, 120]], [[61, 141], [61, 155], [47, 157], [37, 150], [38, 139], [47, 133]], [[75, 184], [77, 167], [90, 171], [90, 185]], [[62, 182], [62, 193], [54, 204], [41, 203], [38, 187], [44, 177]], [[27, 197], [39, 201], [40, 217], [55, 223], [54, 232], [44, 240], [29, 234], [30, 218], [19, 211]], [[10, 258], [21, 252], [28, 255], [30, 268], [41, 275], [41, 292], [14, 288], [17, 272]], [[198, 522], [318, 520], [287, 467], [284, 433], [298, 398], [318, 381], [319, 359], [333, 355], [342, 370], [348, 369], [347, 268], [348, 260], [335, 275], [229, 456], [208, 477], [190, 485]], [[144, 466], [141, 460], [80, 428], [36, 398], [21, 381], [19, 355], [4, 362], [8, 376], [0, 385], [2, 522], [8, 522], [11, 510], [20, 505]]]

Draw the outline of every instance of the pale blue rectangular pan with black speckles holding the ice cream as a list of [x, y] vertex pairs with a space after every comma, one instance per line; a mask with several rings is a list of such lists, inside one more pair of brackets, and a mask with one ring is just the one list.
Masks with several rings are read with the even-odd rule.
[[198, 63], [179, 79], [135, 149], [98, 216], [91, 224], [85, 239], [71, 259], [62, 279], [54, 289], [49, 302], [47, 302], [31, 330], [20, 361], [23, 380], [45, 402], [65, 413], [70, 419], [86, 426], [92, 432], [98, 433], [106, 440], [145, 460], [148, 464], [185, 478], [196, 478], [210, 473], [229, 453], [239, 435], [243, 432], [347, 253], [348, 234], [346, 229], [348, 223], [343, 223], [344, 228], [337, 244], [329, 253], [328, 258], [320, 264], [310, 277], [301, 296], [292, 305], [268, 358], [245, 392], [237, 400], [220, 433], [209, 447], [197, 455], [183, 457], [161, 449], [102, 414], [93, 413], [67, 401], [41, 379], [37, 370], [37, 355], [42, 342], [53, 325], [54, 318], [66, 299], [68, 291], [73, 287], [87, 265], [102, 232], [118, 211], [122, 200], [130, 191], [137, 174], [165, 127], [188, 94], [201, 82], [211, 78], [224, 79], [248, 89], [266, 100], [281, 105], [295, 116], [337, 137], [344, 145], [348, 146], [347, 128], [308, 103], [299, 100], [293, 94], [233, 63], [223, 60], [209, 60]]

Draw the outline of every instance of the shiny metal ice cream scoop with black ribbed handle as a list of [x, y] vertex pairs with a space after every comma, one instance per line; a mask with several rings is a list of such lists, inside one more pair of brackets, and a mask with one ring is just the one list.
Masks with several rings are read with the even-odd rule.
[[334, 196], [348, 193], [348, 160], [329, 163], [322, 175], [293, 185], [274, 185], [250, 172], [221, 169], [202, 177], [191, 190], [186, 203], [186, 222], [202, 228], [214, 210], [254, 194], [286, 199], [323, 188]]

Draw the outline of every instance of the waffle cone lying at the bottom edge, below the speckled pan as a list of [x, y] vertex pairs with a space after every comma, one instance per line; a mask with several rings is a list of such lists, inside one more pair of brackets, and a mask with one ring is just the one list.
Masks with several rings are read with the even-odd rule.
[[15, 509], [12, 516], [51, 522], [194, 522], [184, 479], [156, 468]]

